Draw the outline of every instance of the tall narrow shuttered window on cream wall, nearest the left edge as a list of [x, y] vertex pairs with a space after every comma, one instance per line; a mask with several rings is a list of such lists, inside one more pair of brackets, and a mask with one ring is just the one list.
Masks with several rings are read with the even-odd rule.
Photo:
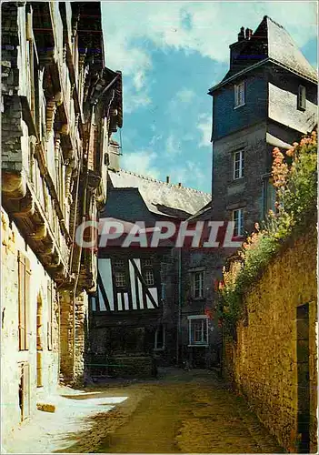
[[18, 253], [19, 350], [29, 349], [30, 261]]

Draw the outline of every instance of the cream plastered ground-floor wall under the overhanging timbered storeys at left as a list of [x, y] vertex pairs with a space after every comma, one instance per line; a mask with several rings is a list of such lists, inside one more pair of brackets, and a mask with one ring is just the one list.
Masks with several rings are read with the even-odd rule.
[[[11, 223], [4, 210], [1, 211], [1, 388], [2, 388], [2, 438], [3, 444], [10, 440], [12, 431], [21, 421], [19, 407], [19, 383], [22, 362], [29, 364], [29, 403], [30, 417], [36, 410], [37, 399], [42, 399], [54, 391], [58, 382], [58, 301], [53, 291], [52, 346], [49, 346], [48, 324], [48, 284], [52, 284], [45, 269], [30, 248], [26, 247], [14, 223]], [[31, 279], [29, 287], [28, 334], [29, 349], [19, 350], [18, 321], [18, 252], [30, 260]], [[42, 382], [37, 387], [36, 370], [36, 312], [37, 302], [42, 302]], [[50, 349], [52, 348], [52, 349]]]

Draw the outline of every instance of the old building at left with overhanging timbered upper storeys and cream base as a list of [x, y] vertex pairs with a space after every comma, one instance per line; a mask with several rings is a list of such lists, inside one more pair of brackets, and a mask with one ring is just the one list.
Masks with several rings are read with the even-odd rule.
[[105, 68], [99, 3], [2, 5], [4, 442], [60, 374], [83, 376], [96, 258], [75, 233], [105, 204], [121, 84]]

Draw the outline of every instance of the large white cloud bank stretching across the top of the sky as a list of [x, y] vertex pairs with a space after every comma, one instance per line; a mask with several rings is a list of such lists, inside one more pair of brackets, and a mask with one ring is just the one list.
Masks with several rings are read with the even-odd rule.
[[[105, 65], [129, 76], [135, 89], [133, 96], [126, 96], [126, 112], [151, 103], [148, 75], [152, 56], [148, 42], [164, 52], [171, 48], [196, 51], [228, 62], [229, 45], [236, 41], [239, 28], [244, 25], [255, 29], [264, 15], [284, 25], [299, 46], [317, 33], [316, 2], [306, 1], [102, 2], [102, 13]], [[179, 94], [184, 102], [192, 98], [190, 90]]]

